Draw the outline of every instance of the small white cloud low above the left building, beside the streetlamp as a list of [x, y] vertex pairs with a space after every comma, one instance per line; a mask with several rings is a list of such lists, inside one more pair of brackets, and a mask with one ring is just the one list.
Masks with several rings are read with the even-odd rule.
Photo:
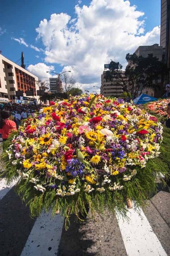
[[50, 73], [46, 71], [54, 70], [54, 66], [47, 66], [44, 63], [37, 63], [35, 65], [29, 65], [27, 70], [38, 77], [39, 80], [46, 80], [52, 77]]

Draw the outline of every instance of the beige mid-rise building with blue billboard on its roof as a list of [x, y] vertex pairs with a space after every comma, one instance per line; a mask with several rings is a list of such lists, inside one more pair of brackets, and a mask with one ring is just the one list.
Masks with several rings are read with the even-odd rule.
[[[118, 98], [120, 94], [122, 94], [122, 84], [114, 84], [114, 80], [116, 82], [116, 79], [113, 79], [112, 82], [106, 82], [105, 73], [106, 69], [103, 71], [103, 74], [101, 75], [100, 93], [104, 96], [114, 96]], [[120, 71], [120, 75], [123, 76], [123, 74], [124, 71]]]

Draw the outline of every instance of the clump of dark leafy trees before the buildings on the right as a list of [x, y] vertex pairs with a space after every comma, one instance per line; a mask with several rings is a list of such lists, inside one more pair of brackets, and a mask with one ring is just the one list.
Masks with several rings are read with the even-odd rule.
[[144, 88], [159, 89], [158, 82], [167, 73], [166, 65], [157, 57], [148, 54], [148, 57], [137, 56], [135, 53], [127, 54], [128, 65], [124, 77], [120, 70], [122, 65], [119, 62], [111, 61], [109, 71], [105, 73], [105, 79], [113, 84], [122, 84], [122, 89], [127, 92], [128, 97], [135, 98]]

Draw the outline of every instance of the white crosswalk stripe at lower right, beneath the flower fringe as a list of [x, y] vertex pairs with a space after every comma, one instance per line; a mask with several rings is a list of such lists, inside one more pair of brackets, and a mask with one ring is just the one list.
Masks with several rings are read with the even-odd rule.
[[127, 215], [129, 222], [117, 216], [127, 255], [167, 256], [142, 209], [143, 219], [133, 209], [130, 209]]

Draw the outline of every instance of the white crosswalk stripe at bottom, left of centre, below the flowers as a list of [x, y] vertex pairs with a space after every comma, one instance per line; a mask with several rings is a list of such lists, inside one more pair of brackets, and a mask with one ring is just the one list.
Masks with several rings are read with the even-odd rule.
[[42, 212], [35, 221], [21, 256], [57, 255], [63, 222], [64, 218], [59, 214], [52, 218], [51, 214]]

